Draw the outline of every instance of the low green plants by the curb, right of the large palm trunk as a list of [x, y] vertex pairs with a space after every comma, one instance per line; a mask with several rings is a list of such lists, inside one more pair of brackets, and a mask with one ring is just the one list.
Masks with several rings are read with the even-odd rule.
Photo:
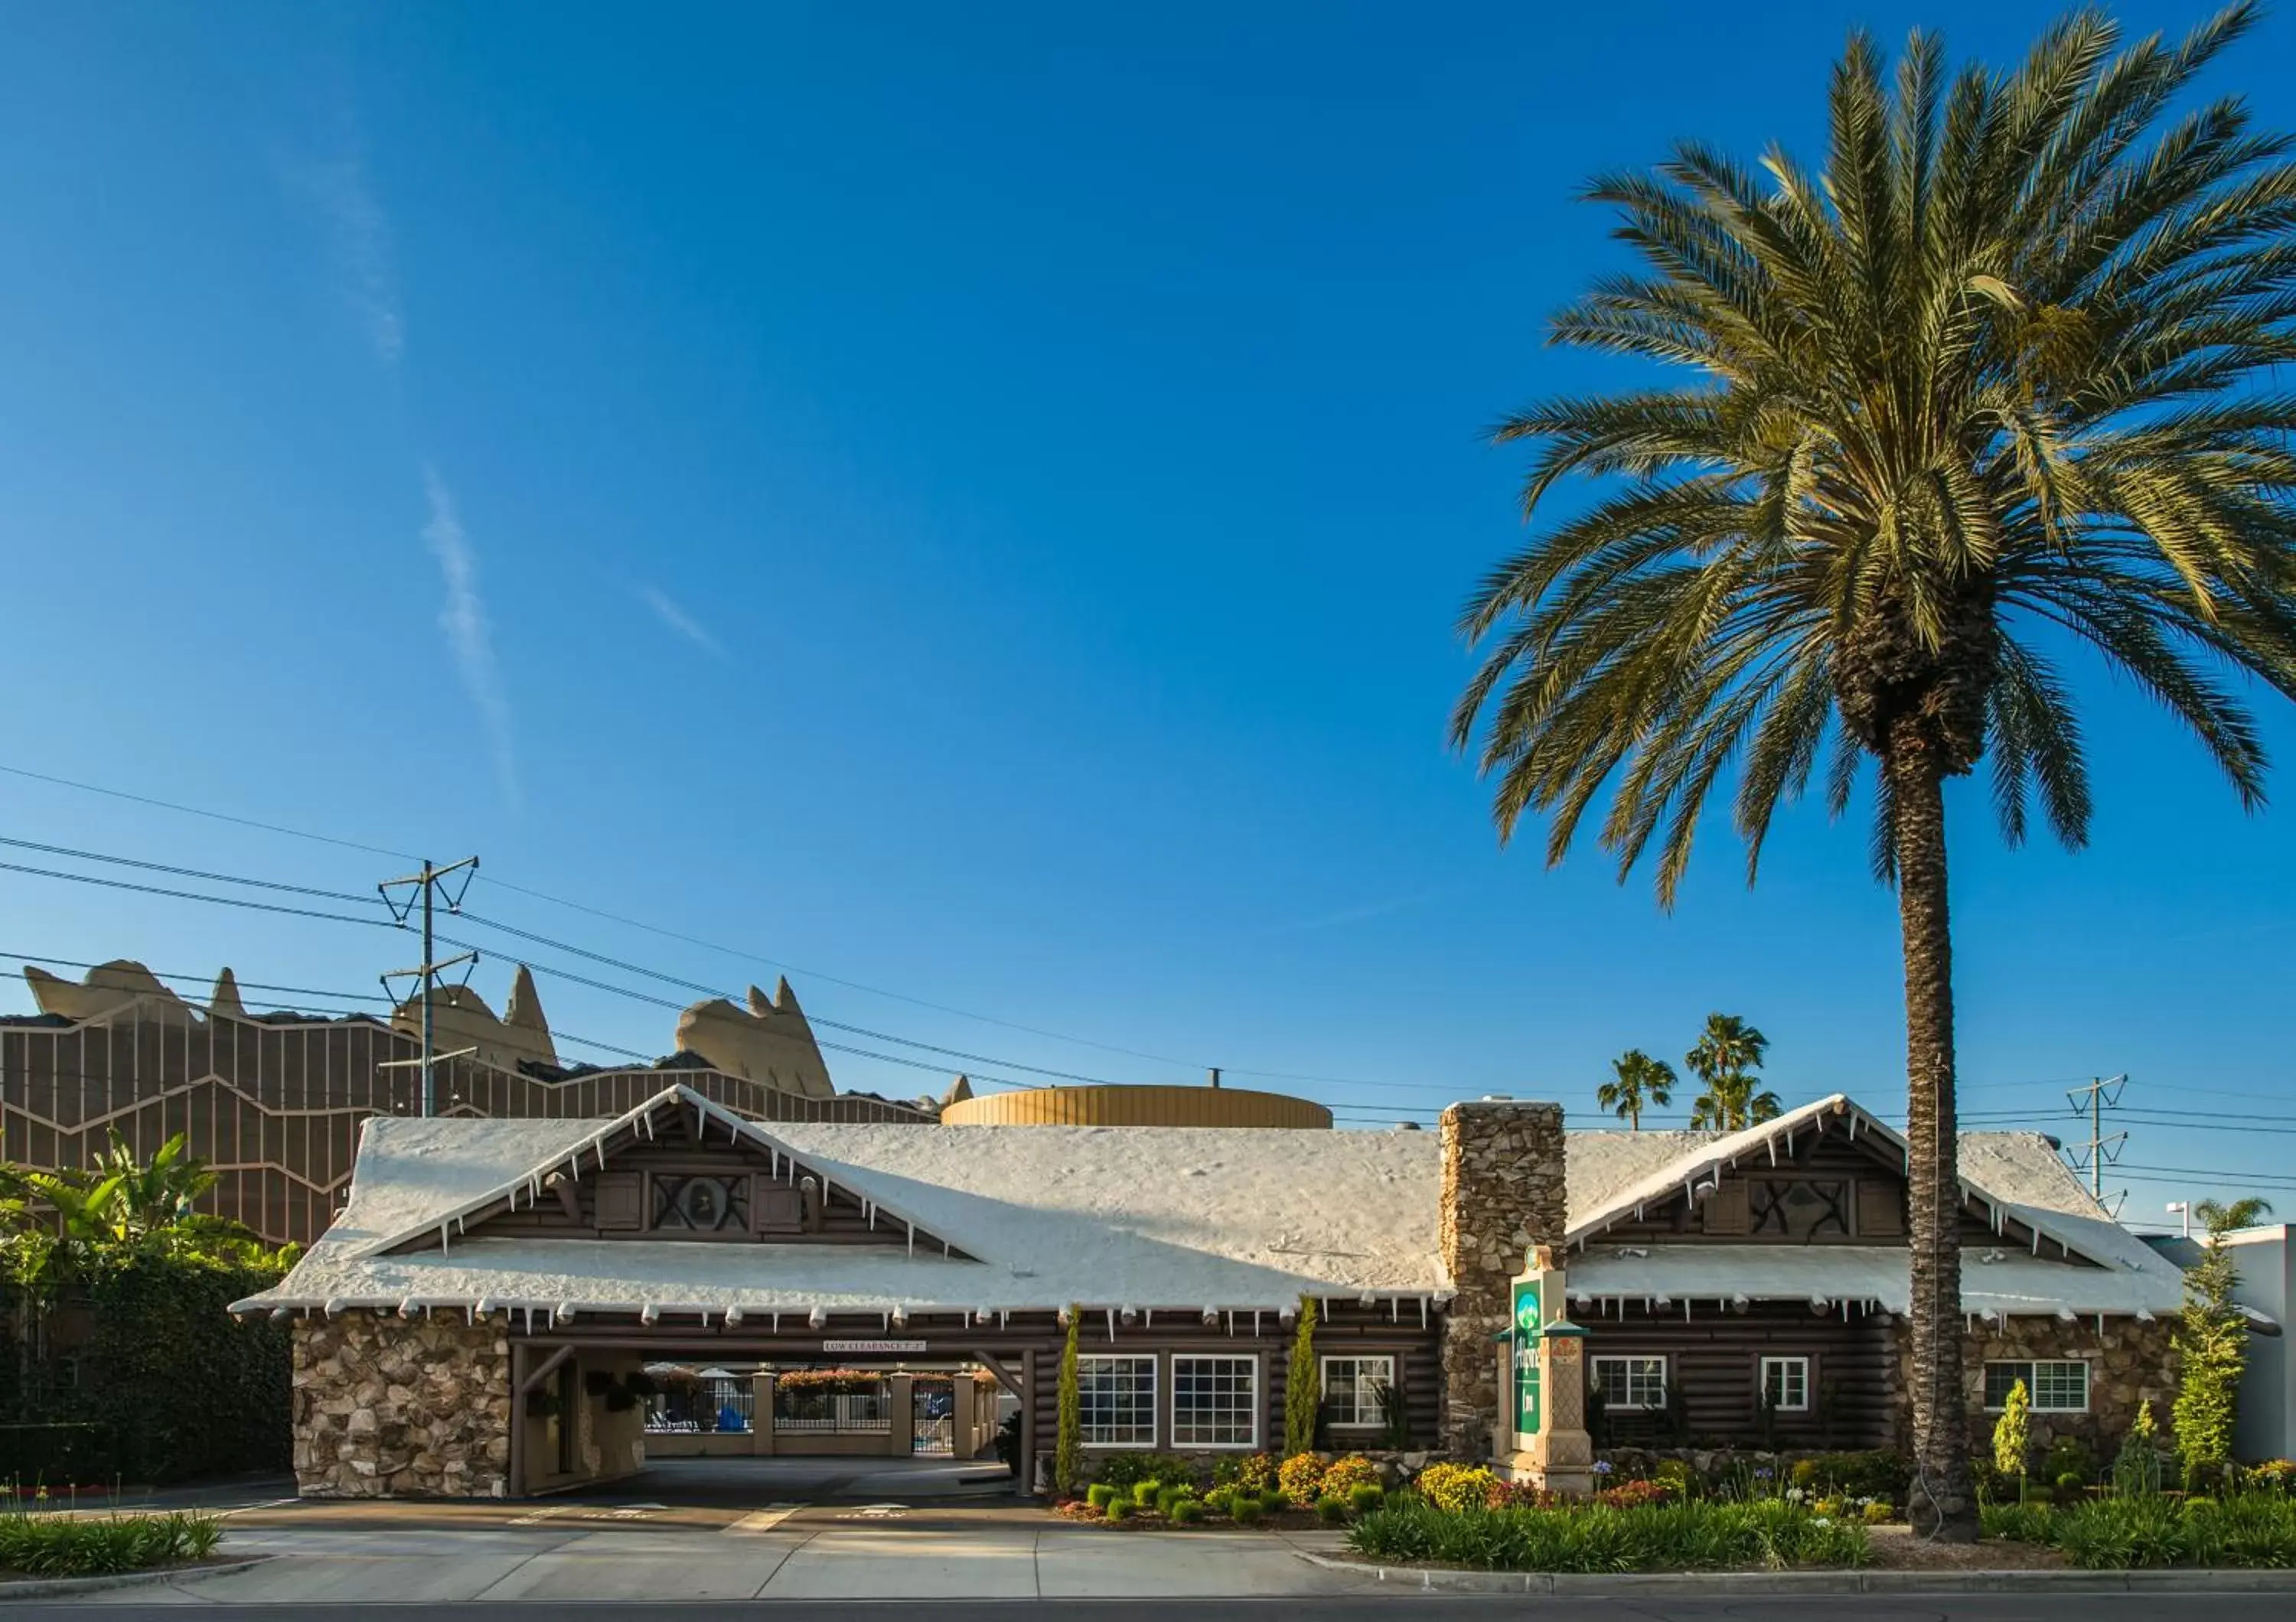
[[2236, 1498], [2131, 1494], [2069, 1507], [1988, 1503], [1981, 1514], [1986, 1537], [2057, 1549], [2089, 1572], [2296, 1565], [2296, 1498], [2280, 1491]]

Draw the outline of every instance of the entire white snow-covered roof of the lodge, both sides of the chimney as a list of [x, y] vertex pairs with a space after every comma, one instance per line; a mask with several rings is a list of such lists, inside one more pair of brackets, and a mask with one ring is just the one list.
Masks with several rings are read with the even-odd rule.
[[[464, 1237], [549, 1175], [592, 1175], [606, 1145], [684, 1104], [707, 1131], [794, 1156], [939, 1246]], [[1568, 1287], [1607, 1299], [1878, 1301], [1903, 1305], [1906, 1253], [1883, 1246], [1605, 1243], [1603, 1227], [1770, 1145], [1818, 1129], [1903, 1140], [1844, 1097], [1745, 1133], [1573, 1131]], [[1968, 1248], [1972, 1312], [2161, 1312], [2181, 1271], [2089, 1198], [2039, 1133], [1963, 1133], [1968, 1188], [2099, 1266], [2014, 1241]], [[494, 1305], [746, 1317], [902, 1310], [1283, 1310], [1302, 1294], [1440, 1299], [1435, 1133], [1219, 1126], [909, 1126], [748, 1122], [670, 1087], [615, 1120], [374, 1117], [349, 1204], [259, 1305]], [[409, 1246], [443, 1234], [441, 1243]], [[1993, 1260], [1986, 1260], [1993, 1257]]]

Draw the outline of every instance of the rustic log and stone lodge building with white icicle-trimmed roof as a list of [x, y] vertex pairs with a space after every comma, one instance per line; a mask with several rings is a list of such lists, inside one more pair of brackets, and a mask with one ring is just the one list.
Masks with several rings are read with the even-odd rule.
[[[1972, 1420], [2117, 1436], [2170, 1395], [2181, 1273], [2037, 1133], [1963, 1138]], [[1612, 1441], [1883, 1445], [1906, 1422], [1906, 1147], [1844, 1097], [1743, 1133], [604, 1120], [365, 1124], [349, 1204], [239, 1312], [294, 1324], [310, 1496], [523, 1496], [643, 1464], [634, 1377], [964, 1367], [1047, 1477], [1063, 1340], [1088, 1457], [1279, 1450], [1302, 1299], [1334, 1448], [1504, 1455], [1495, 1338], [1564, 1253]], [[2156, 1416], [2161, 1409], [2156, 1406]]]

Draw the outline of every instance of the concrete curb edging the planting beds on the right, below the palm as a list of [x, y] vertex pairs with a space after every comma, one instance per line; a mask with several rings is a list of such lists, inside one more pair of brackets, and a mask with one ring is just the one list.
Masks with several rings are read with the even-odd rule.
[[1325, 1572], [1355, 1572], [1396, 1588], [1453, 1594], [1545, 1594], [1552, 1599], [1699, 1594], [2296, 1594], [2296, 1572], [2186, 1567], [2165, 1572], [1463, 1572], [1449, 1567], [1336, 1560], [1293, 1546]]

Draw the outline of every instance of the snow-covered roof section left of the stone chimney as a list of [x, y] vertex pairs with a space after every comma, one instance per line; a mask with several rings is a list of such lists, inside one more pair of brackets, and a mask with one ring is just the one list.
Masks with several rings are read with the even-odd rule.
[[[664, 1101], [707, 1106], [673, 1087]], [[712, 1110], [939, 1248], [461, 1237], [457, 1221], [569, 1163], [615, 1122], [365, 1124], [349, 1204], [259, 1305], [530, 1305], [576, 1312], [1286, 1310], [1302, 1294], [1440, 1296], [1433, 1133], [1219, 1126], [891, 1126]], [[443, 1246], [395, 1250], [445, 1230]]]

